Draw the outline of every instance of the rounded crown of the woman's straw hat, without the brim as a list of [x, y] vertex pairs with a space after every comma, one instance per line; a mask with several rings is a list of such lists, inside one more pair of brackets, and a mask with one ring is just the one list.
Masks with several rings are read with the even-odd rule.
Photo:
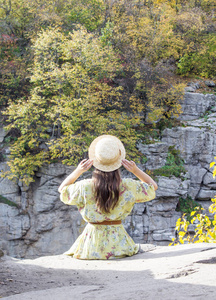
[[100, 140], [95, 147], [95, 156], [100, 163], [111, 164], [118, 160], [121, 150], [111, 138]]

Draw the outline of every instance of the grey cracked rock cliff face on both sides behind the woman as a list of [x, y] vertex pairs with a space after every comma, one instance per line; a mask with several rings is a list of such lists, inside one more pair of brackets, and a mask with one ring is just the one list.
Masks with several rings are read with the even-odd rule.
[[[181, 216], [176, 211], [179, 198], [189, 195], [207, 209], [216, 195], [216, 181], [209, 169], [216, 155], [215, 105], [214, 95], [185, 93], [180, 116], [184, 126], [165, 129], [158, 143], [138, 145], [146, 160], [141, 167], [149, 170], [164, 166], [169, 147], [175, 146], [187, 174], [158, 177], [156, 199], [134, 206], [124, 226], [136, 242], [167, 245], [175, 237], [175, 224]], [[0, 167], [6, 168], [5, 163]], [[61, 164], [43, 167], [29, 188], [0, 179], [0, 195], [16, 204], [0, 203], [0, 249], [29, 258], [68, 250], [85, 226], [75, 207], [59, 201], [57, 188], [72, 170]]]

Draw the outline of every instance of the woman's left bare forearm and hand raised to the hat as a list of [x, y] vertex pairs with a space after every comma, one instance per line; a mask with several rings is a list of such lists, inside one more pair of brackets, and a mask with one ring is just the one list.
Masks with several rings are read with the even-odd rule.
[[62, 182], [60, 187], [58, 188], [59, 193], [61, 193], [63, 187], [74, 183], [77, 178], [79, 178], [84, 172], [88, 171], [93, 164], [93, 160], [83, 159], [77, 168]]

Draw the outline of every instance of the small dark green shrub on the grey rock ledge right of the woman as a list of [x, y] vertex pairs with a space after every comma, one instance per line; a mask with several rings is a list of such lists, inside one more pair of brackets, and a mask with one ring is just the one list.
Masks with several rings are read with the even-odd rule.
[[169, 147], [165, 166], [153, 171], [155, 176], [165, 177], [181, 177], [185, 172], [184, 160], [180, 157], [180, 151], [176, 150], [174, 146]]

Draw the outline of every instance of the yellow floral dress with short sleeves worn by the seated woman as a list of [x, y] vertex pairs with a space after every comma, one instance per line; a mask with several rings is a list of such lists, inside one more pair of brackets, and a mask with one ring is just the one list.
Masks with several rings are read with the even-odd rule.
[[[135, 203], [155, 198], [153, 185], [125, 178], [120, 183], [120, 197], [109, 214], [101, 213], [96, 206], [92, 179], [77, 181], [65, 186], [60, 199], [68, 205], [76, 205], [86, 222], [123, 220]], [[112, 259], [131, 256], [139, 251], [122, 224], [98, 225], [88, 223], [72, 247], [65, 253], [78, 259]]]

